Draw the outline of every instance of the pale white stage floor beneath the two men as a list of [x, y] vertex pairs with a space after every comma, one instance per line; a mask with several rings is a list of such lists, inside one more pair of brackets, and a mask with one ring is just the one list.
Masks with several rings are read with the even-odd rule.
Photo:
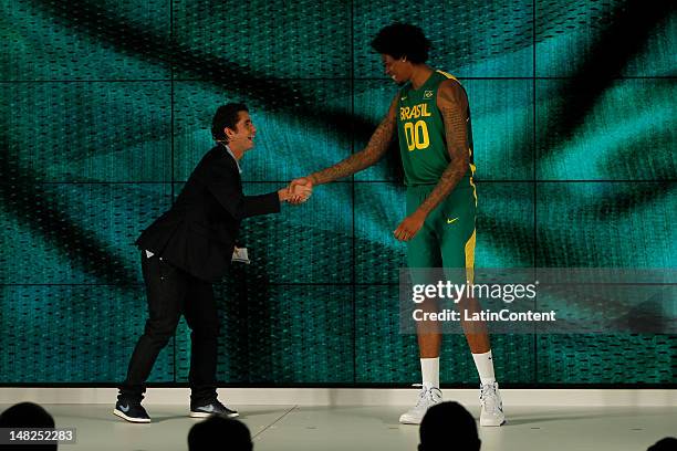
[[[0, 411], [8, 405], [0, 405]], [[187, 450], [188, 430], [198, 420], [186, 405], [145, 405], [150, 424], [132, 424], [112, 415], [111, 405], [43, 405], [56, 427], [74, 427], [77, 443], [60, 450]], [[254, 450], [408, 450], [418, 427], [397, 423], [396, 406], [233, 406], [249, 427]], [[478, 416], [479, 407], [469, 406]], [[479, 428], [482, 451], [644, 451], [677, 434], [677, 407], [507, 408], [509, 423]], [[449, 437], [452, 442], [452, 436]], [[215, 449], [218, 449], [216, 447]]]

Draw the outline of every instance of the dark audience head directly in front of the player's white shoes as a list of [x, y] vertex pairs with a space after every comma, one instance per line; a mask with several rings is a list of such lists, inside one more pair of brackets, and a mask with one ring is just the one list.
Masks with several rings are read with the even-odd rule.
[[475, 418], [458, 402], [440, 402], [428, 409], [420, 422], [418, 451], [478, 451]]

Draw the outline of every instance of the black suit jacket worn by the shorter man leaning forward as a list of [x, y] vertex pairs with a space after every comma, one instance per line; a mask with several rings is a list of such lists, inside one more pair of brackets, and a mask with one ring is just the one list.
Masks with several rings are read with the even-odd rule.
[[198, 279], [216, 282], [230, 266], [240, 221], [279, 211], [277, 191], [242, 193], [235, 158], [217, 146], [192, 170], [171, 209], [144, 230], [136, 244]]

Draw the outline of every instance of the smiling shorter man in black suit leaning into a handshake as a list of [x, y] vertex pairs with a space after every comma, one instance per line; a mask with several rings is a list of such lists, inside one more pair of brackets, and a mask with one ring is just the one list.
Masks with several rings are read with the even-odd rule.
[[247, 106], [227, 104], [213, 116], [217, 146], [202, 157], [169, 211], [136, 241], [142, 250], [148, 314], [119, 387], [113, 413], [131, 422], [150, 422], [140, 405], [159, 352], [174, 335], [181, 314], [191, 328], [190, 417], [237, 417], [217, 399], [219, 321], [212, 283], [230, 266], [240, 221], [277, 213], [282, 201], [304, 200], [309, 190], [283, 188], [244, 196], [239, 160], [253, 147], [256, 127]]

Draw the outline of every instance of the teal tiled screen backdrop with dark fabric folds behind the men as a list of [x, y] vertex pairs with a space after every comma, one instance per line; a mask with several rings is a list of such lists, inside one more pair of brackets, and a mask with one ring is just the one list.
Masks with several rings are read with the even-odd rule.
[[[477, 268], [677, 266], [677, 14], [643, 1], [0, 0], [0, 385], [115, 384], [146, 318], [139, 232], [244, 102], [247, 193], [367, 143], [397, 87], [369, 48], [421, 27], [472, 112]], [[407, 386], [397, 150], [246, 220], [252, 263], [215, 286], [218, 378]], [[662, 334], [494, 335], [506, 386], [674, 386]], [[442, 384], [478, 377], [446, 336]], [[150, 382], [187, 382], [181, 322]]]

